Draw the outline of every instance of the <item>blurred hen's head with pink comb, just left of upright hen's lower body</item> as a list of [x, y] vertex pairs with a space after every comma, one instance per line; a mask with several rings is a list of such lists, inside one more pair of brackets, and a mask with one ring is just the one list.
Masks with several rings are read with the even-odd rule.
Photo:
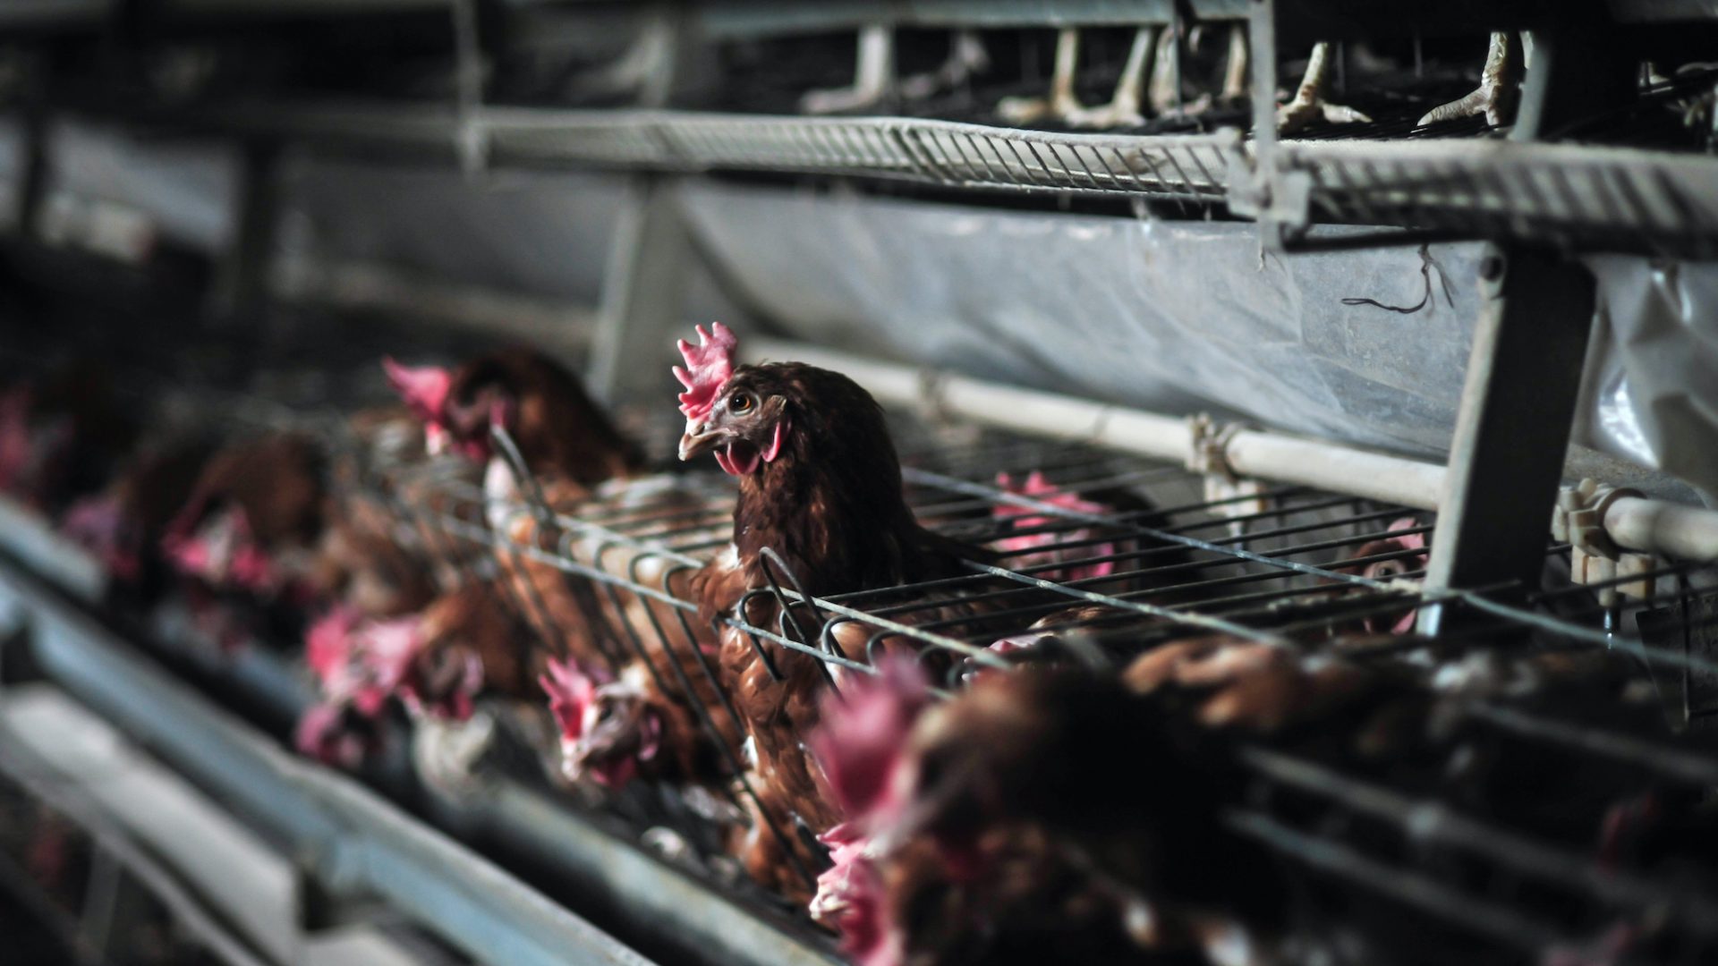
[[641, 763], [656, 758], [661, 717], [636, 684], [598, 681], [572, 660], [551, 660], [539, 682], [560, 725], [562, 772], [569, 780], [589, 775], [620, 789]]

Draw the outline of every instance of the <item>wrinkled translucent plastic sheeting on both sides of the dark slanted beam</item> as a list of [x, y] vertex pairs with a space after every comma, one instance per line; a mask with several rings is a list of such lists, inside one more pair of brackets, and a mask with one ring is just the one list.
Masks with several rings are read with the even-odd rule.
[[[1424, 455], [1448, 449], [1481, 308], [1477, 244], [1261, 258], [1249, 223], [715, 184], [687, 211], [797, 339]], [[1718, 492], [1718, 265], [1593, 261], [1575, 442]]]

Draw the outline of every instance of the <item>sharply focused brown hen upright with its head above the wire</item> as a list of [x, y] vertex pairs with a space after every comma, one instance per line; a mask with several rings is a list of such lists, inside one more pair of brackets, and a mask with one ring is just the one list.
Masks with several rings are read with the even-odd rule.
[[[687, 368], [680, 411], [680, 459], [715, 454], [739, 478], [732, 543], [692, 578], [699, 626], [740, 619], [792, 638], [811, 615], [789, 614], [768, 593], [771, 583], [813, 596], [914, 584], [971, 574], [964, 560], [988, 559], [979, 548], [941, 538], [914, 519], [902, 498], [900, 464], [883, 411], [840, 373], [801, 363], [734, 366], [732, 332], [699, 328], [699, 345], [680, 342]], [[888, 603], [888, 602], [883, 602]], [[960, 600], [916, 610], [917, 621], [971, 619]], [[807, 633], [818, 629], [811, 619]], [[716, 648], [722, 684], [749, 744], [746, 804], [752, 825], [739, 842], [754, 878], [806, 901], [806, 870], [819, 861], [806, 842], [840, 822], [802, 739], [818, 724], [830, 669], [818, 657], [723, 624]], [[945, 627], [945, 633], [947, 627]], [[837, 626], [830, 645], [849, 658], [866, 657], [873, 629]], [[807, 641], [818, 646], [818, 641]], [[881, 650], [909, 646], [900, 638]], [[948, 655], [926, 655], [947, 665]]]

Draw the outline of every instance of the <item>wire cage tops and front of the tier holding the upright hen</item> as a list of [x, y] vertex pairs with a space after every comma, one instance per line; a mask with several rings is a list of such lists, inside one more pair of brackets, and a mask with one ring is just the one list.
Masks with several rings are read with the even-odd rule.
[[[1510, 655], [1629, 655], [1641, 686], [1656, 691], [1654, 705], [1682, 737], [1617, 724], [1622, 717], [1608, 708], [1546, 713], [1507, 700], [1465, 701], [1464, 722], [1565, 761], [1565, 779], [1575, 784], [1587, 767], [1625, 770], [1641, 794], [1665, 782], [1684, 789], [1718, 782], [1718, 756], [1697, 727], [1708, 710], [1706, 676], [1718, 667], [1701, 650], [1713, 622], [1706, 567], [1656, 560], [1575, 583], [1570, 545], [1548, 543], [1539, 588], [1428, 596], [1417, 578], [1433, 514], [1301, 486], [1211, 480], [1086, 445], [971, 426], [899, 421], [897, 438], [919, 519], [993, 557], [974, 555], [959, 578], [828, 596], [801, 593], [795, 574], [778, 566], [777, 579], [752, 591], [780, 602], [778, 624], [720, 619], [749, 634], [759, 653], [785, 648], [816, 657], [832, 688], [849, 672], [871, 670], [871, 651], [885, 639], [911, 639], [921, 655], [945, 655], [936, 662], [945, 669], [938, 681], [945, 693], [957, 691], [976, 667], [1014, 663], [1017, 648], [1048, 648], [1115, 672], [1165, 641], [1211, 634], [1414, 667], [1428, 679], [1459, 676], [1464, 662]], [[426, 548], [455, 566], [479, 572], [486, 560], [531, 560], [610, 602], [622, 593], [649, 598], [660, 607], [644, 610], [646, 622], [622, 619], [612, 627], [606, 646], [615, 660], [670, 641], [679, 655], [668, 665], [673, 681], [656, 684], [685, 694], [704, 727], [734, 715], [730, 706], [699, 703], [708, 691], [696, 688], [698, 679], [715, 681], [718, 670], [698, 646], [680, 646], [696, 641], [698, 605], [667, 590], [675, 572], [701, 567], [728, 545], [732, 490], [720, 478], [687, 474], [648, 483], [643, 497], [634, 483], [631, 495], [601, 493], [557, 512], [529, 483], [527, 468], [515, 462], [515, 471], [526, 500], [505, 505], [435, 464], [385, 468], [371, 485], [412, 521]], [[424, 486], [436, 473], [443, 473], [440, 481]], [[533, 524], [526, 540], [509, 538], [517, 536], [519, 519]], [[541, 600], [526, 596], [514, 590], [509, 605], [527, 614], [555, 648], [560, 629]], [[988, 607], [981, 619], [938, 621], [941, 603], [953, 596]], [[1410, 633], [1426, 607], [1447, 608], [1452, 629], [1436, 639]], [[842, 634], [854, 624], [864, 629], [868, 653], [837, 643], [854, 639]], [[1603, 925], [1644, 916], [1677, 933], [1680, 954], [1711, 949], [1708, 911], [1718, 908], [1718, 894], [1699, 877], [1618, 868], [1615, 856], [1587, 842], [1546, 841], [1531, 823], [1512, 825], [1445, 801], [1435, 784], [1361, 775], [1342, 761], [1268, 744], [1246, 748], [1240, 760], [1256, 789], [1225, 816], [1232, 830], [1323, 882], [1378, 892], [1447, 923], [1460, 942], [1517, 956], [1579, 949]], [[756, 791], [739, 780], [740, 761], [728, 765], [737, 808]], [[660, 811], [610, 806], [653, 827], [663, 823]], [[708, 808], [679, 808], [670, 810], [668, 825], [679, 841], [710, 849], [689, 866], [746, 892], [744, 877], [723, 865], [708, 818]], [[643, 827], [636, 832], [649, 837]], [[770, 834], [811, 835], [807, 828]], [[799, 868], [807, 885], [818, 871]], [[751, 896], [778, 911], [761, 890]]]

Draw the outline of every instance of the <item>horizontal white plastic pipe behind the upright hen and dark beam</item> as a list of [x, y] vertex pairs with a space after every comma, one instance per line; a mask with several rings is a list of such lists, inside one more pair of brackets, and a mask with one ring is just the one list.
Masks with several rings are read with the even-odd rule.
[[[747, 339], [742, 342], [742, 351], [747, 361], [794, 359], [847, 373], [880, 402], [893, 406], [960, 416], [1038, 437], [1087, 442], [1170, 462], [1187, 462], [1192, 455], [1192, 421], [1175, 416], [921, 371], [801, 342]], [[1423, 511], [1438, 509], [1443, 495], [1441, 464], [1325, 440], [1239, 430], [1223, 452], [1235, 473], [1261, 480], [1299, 483]], [[1624, 497], [1605, 514], [1605, 529], [1627, 550], [1682, 560], [1718, 560], [1718, 512], [1701, 507]]]

